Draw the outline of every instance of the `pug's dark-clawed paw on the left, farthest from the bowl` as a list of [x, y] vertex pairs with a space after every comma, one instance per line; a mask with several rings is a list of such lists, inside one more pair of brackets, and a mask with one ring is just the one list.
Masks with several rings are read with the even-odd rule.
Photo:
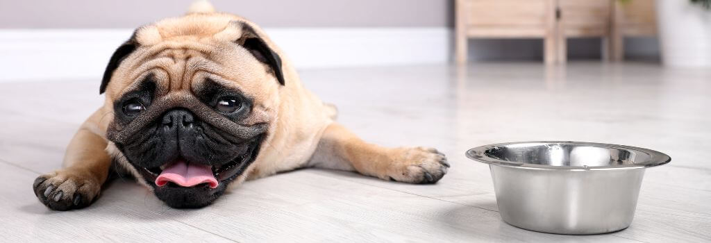
[[32, 184], [37, 198], [51, 210], [73, 210], [90, 205], [101, 183], [90, 173], [61, 170], [40, 175]]

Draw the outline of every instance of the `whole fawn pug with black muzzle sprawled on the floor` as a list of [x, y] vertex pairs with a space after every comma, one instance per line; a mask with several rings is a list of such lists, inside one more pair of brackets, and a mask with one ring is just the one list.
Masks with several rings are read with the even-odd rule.
[[436, 183], [449, 168], [434, 148], [359, 139], [259, 26], [207, 1], [137, 28], [109, 59], [100, 94], [105, 102], [71, 139], [63, 168], [33, 183], [51, 210], [91, 205], [117, 173], [170, 207], [194, 208], [296, 168], [404, 183]]

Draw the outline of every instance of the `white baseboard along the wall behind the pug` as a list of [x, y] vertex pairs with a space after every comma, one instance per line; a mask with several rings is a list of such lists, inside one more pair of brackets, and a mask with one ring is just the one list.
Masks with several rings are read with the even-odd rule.
[[[97, 78], [132, 29], [0, 30], [0, 82]], [[449, 28], [267, 28], [296, 68], [447, 63]]]

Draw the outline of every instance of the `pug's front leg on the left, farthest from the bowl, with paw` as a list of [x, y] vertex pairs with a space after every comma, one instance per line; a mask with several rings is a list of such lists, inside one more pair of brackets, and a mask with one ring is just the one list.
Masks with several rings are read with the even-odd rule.
[[40, 175], [32, 187], [37, 198], [52, 210], [71, 210], [90, 205], [99, 195], [111, 166], [107, 141], [95, 134], [89, 119], [74, 135], [62, 169]]

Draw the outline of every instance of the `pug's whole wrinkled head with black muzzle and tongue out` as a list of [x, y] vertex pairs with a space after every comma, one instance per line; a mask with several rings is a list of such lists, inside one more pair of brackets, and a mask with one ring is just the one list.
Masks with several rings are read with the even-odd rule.
[[260, 156], [289, 85], [260, 28], [188, 13], [138, 28], [100, 87], [109, 152], [171, 207], [203, 207]]

